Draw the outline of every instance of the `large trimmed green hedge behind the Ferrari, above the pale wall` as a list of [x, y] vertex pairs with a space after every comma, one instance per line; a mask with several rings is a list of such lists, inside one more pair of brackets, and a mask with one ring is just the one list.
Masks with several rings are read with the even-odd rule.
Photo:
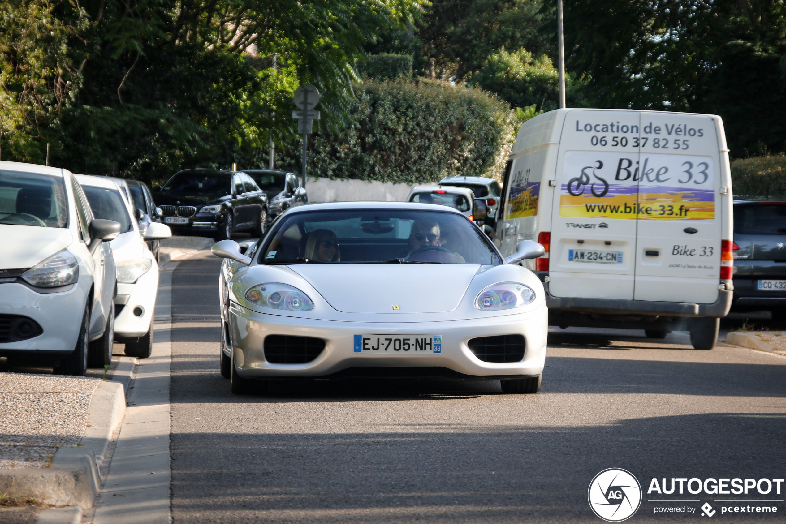
[[354, 125], [314, 135], [311, 176], [406, 184], [498, 176], [520, 125], [489, 93], [435, 80], [369, 79], [352, 104]]

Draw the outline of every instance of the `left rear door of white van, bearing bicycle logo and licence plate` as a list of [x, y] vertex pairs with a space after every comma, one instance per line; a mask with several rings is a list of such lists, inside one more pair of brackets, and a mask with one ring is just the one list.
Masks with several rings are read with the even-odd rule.
[[552, 207], [552, 295], [634, 298], [640, 132], [639, 112], [567, 112]]

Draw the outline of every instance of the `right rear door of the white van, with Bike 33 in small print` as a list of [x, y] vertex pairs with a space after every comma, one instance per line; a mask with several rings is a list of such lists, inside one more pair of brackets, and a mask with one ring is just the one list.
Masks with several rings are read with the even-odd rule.
[[641, 112], [634, 299], [718, 299], [719, 144], [711, 116]]

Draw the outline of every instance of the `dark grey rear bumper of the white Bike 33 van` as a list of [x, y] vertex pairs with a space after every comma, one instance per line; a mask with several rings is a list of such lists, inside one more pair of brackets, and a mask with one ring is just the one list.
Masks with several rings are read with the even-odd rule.
[[725, 317], [732, 306], [734, 291], [718, 291], [718, 300], [711, 304], [690, 302], [651, 302], [647, 300], [586, 299], [580, 297], [555, 297], [549, 293], [549, 284], [543, 283], [545, 305], [549, 310], [577, 311], [582, 313], [609, 313], [635, 315], [668, 315], [670, 317]]

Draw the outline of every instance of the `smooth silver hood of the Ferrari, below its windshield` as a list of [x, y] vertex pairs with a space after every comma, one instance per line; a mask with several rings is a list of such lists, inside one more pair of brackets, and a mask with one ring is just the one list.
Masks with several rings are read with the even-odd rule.
[[443, 313], [457, 308], [479, 266], [303, 264], [289, 268], [343, 313]]

